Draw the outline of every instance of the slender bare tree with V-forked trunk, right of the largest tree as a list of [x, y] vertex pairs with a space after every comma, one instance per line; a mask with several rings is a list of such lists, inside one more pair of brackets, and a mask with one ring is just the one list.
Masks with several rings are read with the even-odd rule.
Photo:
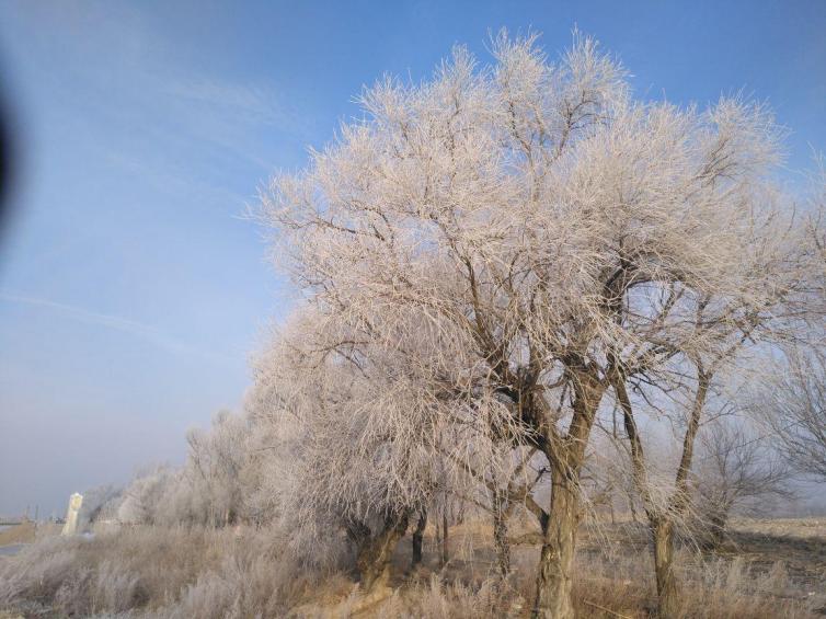
[[[734, 364], [745, 354], [749, 341], [757, 337], [771, 341], [794, 332], [792, 324], [783, 319], [778, 321], [778, 317], [785, 311], [783, 302], [789, 300], [790, 305], [794, 305], [791, 302], [795, 291], [793, 285], [798, 283], [802, 266], [793, 255], [783, 259], [783, 268], [773, 273], [775, 284], [783, 277], [792, 277], [792, 284], [788, 287], [780, 286], [783, 294], [778, 298], [766, 297], [765, 302], [772, 308], [770, 312], [749, 313], [745, 322], [732, 323], [729, 321], [730, 312], [736, 313], [737, 310], [730, 301], [710, 311], [710, 303], [705, 299], [697, 306], [690, 320], [693, 321], [697, 334], [705, 329], [713, 331], [714, 346], [703, 354], [695, 351], [689, 355], [684, 355], [682, 351], [675, 347], [673, 360], [676, 365], [668, 370], [672, 376], [661, 375], [663, 378], [667, 377], [667, 380], [652, 380], [647, 371], [641, 372], [631, 381], [615, 378], [613, 393], [623, 412], [632, 475], [652, 534], [658, 611], [662, 617], [676, 617], [679, 614], [679, 585], [674, 571], [675, 537], [677, 528], [692, 516], [691, 471], [696, 465], [698, 435], [708, 416], [709, 400], [715, 391], [715, 378], [727, 365]], [[785, 272], [789, 264], [794, 265], [792, 272]], [[778, 288], [771, 294], [777, 294], [777, 290]], [[714, 316], [714, 311], [720, 313]], [[800, 308], [795, 307], [791, 313], [796, 316], [798, 311]], [[761, 352], [759, 346], [753, 348], [756, 348], [750, 351], [753, 353]], [[634, 397], [627, 382], [632, 386]], [[677, 461], [646, 457], [640, 424], [641, 413], [649, 416], [650, 433], [652, 422], [656, 420], [667, 420], [677, 429]]]

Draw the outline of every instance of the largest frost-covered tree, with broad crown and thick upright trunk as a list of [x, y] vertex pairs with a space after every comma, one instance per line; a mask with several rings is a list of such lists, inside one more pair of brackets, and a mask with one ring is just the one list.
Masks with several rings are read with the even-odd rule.
[[[364, 119], [277, 177], [262, 216], [323, 334], [309, 347], [335, 356], [324, 374], [364, 377], [369, 396], [330, 414], [383, 440], [379, 466], [418, 471], [440, 436], [447, 461], [493, 462], [503, 443], [541, 454], [534, 612], [567, 618], [606, 393], [691, 383], [702, 399], [704, 368], [773, 334], [808, 245], [771, 181], [779, 131], [762, 106], [634, 102], [589, 38], [559, 62], [534, 37], [492, 48], [490, 67], [457, 48], [429, 81], [367, 89]], [[346, 474], [366, 456], [355, 445], [326, 461]], [[405, 501], [431, 483], [400, 479]]]

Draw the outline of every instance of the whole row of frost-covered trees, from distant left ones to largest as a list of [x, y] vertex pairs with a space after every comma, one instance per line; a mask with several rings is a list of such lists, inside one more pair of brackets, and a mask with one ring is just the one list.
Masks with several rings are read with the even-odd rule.
[[[256, 360], [249, 417], [191, 436], [173, 474], [192, 494], [167, 503], [278, 523], [308, 561], [353, 557], [367, 589], [456, 501], [491, 514], [506, 576], [524, 509], [534, 614], [570, 618], [587, 490], [622, 489], [673, 617], [682, 524], [705, 509], [722, 531], [738, 502], [782, 492], [784, 467], [748, 450], [764, 428], [795, 463], [823, 458], [822, 381], [780, 358], [821, 330], [817, 205], [778, 183], [760, 104], [634, 101], [586, 37], [559, 62], [534, 37], [492, 53], [365, 90], [365, 117], [274, 181], [260, 217], [302, 301]], [[757, 435], [732, 404], [760, 410]]]

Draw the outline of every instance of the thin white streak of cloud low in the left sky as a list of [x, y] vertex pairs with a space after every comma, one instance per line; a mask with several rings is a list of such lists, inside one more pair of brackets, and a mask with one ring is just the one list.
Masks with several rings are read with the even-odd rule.
[[183, 355], [196, 355], [216, 363], [227, 364], [234, 363], [236, 359], [227, 355], [216, 354], [207, 351], [200, 351], [190, 346], [188, 344], [171, 337], [157, 328], [149, 324], [144, 324], [128, 318], [119, 316], [101, 313], [96, 311], [90, 311], [77, 306], [70, 306], [68, 303], [61, 303], [53, 301], [50, 299], [42, 299], [37, 297], [31, 297], [26, 295], [19, 295], [10, 291], [0, 291], [0, 301], [23, 305], [30, 307], [43, 308], [53, 311], [69, 320], [76, 320], [78, 322], [84, 322], [96, 326], [103, 326], [105, 329], [113, 329], [115, 331], [122, 331], [134, 335], [140, 340], [149, 342], [159, 348], [174, 354]]

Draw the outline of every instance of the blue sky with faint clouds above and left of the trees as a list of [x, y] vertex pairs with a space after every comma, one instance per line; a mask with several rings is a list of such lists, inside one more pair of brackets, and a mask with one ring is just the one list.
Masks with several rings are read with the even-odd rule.
[[0, 247], [0, 514], [183, 459], [237, 408], [289, 310], [241, 215], [383, 72], [426, 77], [489, 30], [598, 37], [636, 93], [744, 90], [826, 150], [826, 1], [0, 2], [19, 146]]

